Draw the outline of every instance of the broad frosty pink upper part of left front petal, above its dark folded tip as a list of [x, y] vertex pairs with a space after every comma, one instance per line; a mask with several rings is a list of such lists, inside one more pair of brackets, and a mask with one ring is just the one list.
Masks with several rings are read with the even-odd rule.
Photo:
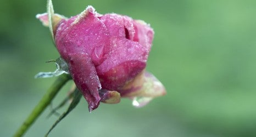
[[107, 28], [97, 18], [92, 7], [79, 16], [60, 22], [55, 41], [64, 59], [69, 53], [86, 53], [96, 66], [105, 59], [110, 46]]

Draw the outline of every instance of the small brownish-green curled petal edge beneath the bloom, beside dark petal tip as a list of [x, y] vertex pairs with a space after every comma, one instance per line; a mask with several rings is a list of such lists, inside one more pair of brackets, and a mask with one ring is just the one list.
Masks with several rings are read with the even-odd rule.
[[109, 91], [106, 89], [99, 90], [99, 95], [101, 96], [101, 102], [107, 104], [116, 104], [120, 102], [120, 93], [116, 91]]

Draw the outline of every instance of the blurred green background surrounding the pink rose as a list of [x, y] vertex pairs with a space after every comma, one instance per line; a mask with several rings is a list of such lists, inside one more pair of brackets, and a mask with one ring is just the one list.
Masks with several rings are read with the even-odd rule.
[[[167, 94], [135, 109], [129, 99], [88, 113], [84, 99], [49, 136], [256, 136], [256, 1], [62, 1], [55, 13], [98, 13], [142, 19], [155, 31], [147, 70]], [[46, 1], [0, 2], [0, 136], [11, 136], [55, 78], [45, 61], [59, 57], [48, 28], [35, 18]], [[68, 83], [53, 101], [65, 96]], [[61, 109], [59, 112], [65, 110]], [[43, 136], [50, 109], [25, 136]]]

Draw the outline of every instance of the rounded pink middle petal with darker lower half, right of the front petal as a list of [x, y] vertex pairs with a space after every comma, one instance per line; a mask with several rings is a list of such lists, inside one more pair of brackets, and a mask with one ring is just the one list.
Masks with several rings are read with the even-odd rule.
[[148, 51], [128, 39], [116, 39], [112, 44], [114, 48], [97, 72], [103, 88], [118, 90], [146, 67]]

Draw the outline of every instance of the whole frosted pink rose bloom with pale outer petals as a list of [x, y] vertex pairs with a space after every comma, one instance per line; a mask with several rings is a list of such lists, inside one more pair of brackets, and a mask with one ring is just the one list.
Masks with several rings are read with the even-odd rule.
[[165, 94], [162, 83], [144, 71], [154, 31], [144, 21], [118, 14], [101, 15], [88, 6], [70, 19], [38, 14], [49, 26], [55, 46], [69, 67], [91, 112], [99, 102], [118, 103], [120, 96], [143, 106]]

